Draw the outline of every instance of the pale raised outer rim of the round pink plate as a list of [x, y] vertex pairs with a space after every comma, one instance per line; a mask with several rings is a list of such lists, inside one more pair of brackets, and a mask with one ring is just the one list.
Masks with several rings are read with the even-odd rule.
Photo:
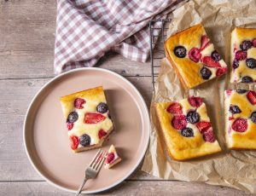
[[27, 158], [29, 159], [29, 162], [30, 164], [32, 164], [32, 167], [34, 168], [34, 170], [37, 171], [38, 175], [41, 176], [46, 182], [48, 182], [50, 185], [52, 185], [53, 187], [57, 187], [63, 191], [67, 191], [69, 193], [76, 193], [76, 190], [73, 190], [73, 189], [70, 189], [70, 188], [67, 188], [67, 187], [62, 187], [58, 184], [56, 184], [55, 182], [52, 182], [49, 180], [49, 178], [47, 178], [46, 176], [44, 176], [40, 170], [38, 170], [37, 166], [33, 163], [32, 161], [32, 158], [28, 152], [28, 149], [26, 147], [26, 122], [28, 120], [28, 113], [30, 112], [31, 108], [32, 108], [32, 104], [34, 103], [34, 101], [38, 98], [38, 95], [40, 95], [40, 93], [51, 83], [53, 83], [55, 80], [57, 80], [58, 78], [61, 78], [61, 77], [64, 77], [65, 75], [67, 74], [70, 74], [71, 72], [82, 72], [84, 70], [88, 70], [88, 71], [100, 71], [100, 72], [108, 72], [109, 74], [112, 74], [114, 75], [115, 77], [118, 77], [122, 80], [124, 80], [127, 84], [129, 84], [131, 86], [131, 88], [133, 90], [135, 90], [135, 92], [137, 93], [137, 95], [139, 96], [139, 98], [141, 99], [142, 101], [142, 104], [143, 104], [143, 107], [145, 109], [145, 114], [146, 114], [146, 124], [148, 124], [148, 137], [147, 137], [147, 141], [146, 141], [146, 145], [145, 147], [143, 147], [143, 151], [139, 157], [139, 159], [137, 160], [137, 164], [135, 164], [135, 166], [133, 166], [131, 168], [131, 170], [123, 177], [121, 178], [119, 181], [117, 182], [114, 182], [112, 185], [108, 186], [108, 187], [104, 187], [104, 188], [99, 188], [99, 189], [96, 189], [94, 191], [82, 191], [81, 193], [100, 193], [100, 192], [103, 192], [103, 191], [106, 191], [112, 187], [115, 187], [117, 185], [119, 185], [119, 183], [121, 182], [124, 182], [125, 179], [127, 179], [129, 176], [131, 176], [131, 174], [137, 169], [138, 165], [142, 162], [144, 156], [145, 156], [145, 153], [148, 149], [148, 144], [149, 144], [149, 138], [150, 138], [150, 130], [151, 130], [151, 124], [150, 124], [150, 119], [149, 119], [149, 112], [148, 112], [148, 107], [143, 99], [143, 95], [141, 95], [141, 93], [138, 91], [138, 89], [133, 85], [131, 84], [131, 82], [126, 79], [125, 77], [119, 75], [118, 73], [116, 72], [113, 72], [113, 71], [110, 71], [110, 70], [107, 70], [107, 69], [103, 69], [103, 68], [99, 68], [99, 67], [80, 67], [80, 68], [76, 68], [76, 69], [73, 69], [73, 70], [69, 70], [67, 72], [63, 72], [61, 73], [60, 75], [58, 76], [55, 76], [54, 78], [51, 78], [46, 84], [44, 84], [39, 90], [38, 92], [36, 93], [36, 95], [33, 96], [32, 98], [32, 101], [30, 102], [29, 106], [27, 107], [27, 110], [26, 110], [26, 115], [25, 115], [25, 119], [24, 119], [24, 123], [23, 123], [23, 143], [24, 143], [24, 147], [25, 147], [25, 150], [26, 150], [26, 156]]

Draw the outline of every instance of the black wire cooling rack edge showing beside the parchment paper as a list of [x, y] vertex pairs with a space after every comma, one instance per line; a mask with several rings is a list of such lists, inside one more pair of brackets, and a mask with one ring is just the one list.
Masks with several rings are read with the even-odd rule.
[[[152, 77], [152, 87], [154, 90], [155, 78], [158, 76], [160, 70], [160, 60], [166, 57], [164, 50], [164, 43], [167, 37], [168, 26], [171, 19], [156, 19], [150, 20], [150, 61], [151, 61], [151, 77]], [[160, 23], [155, 24], [155, 23]], [[154, 27], [161, 26], [161, 27]], [[158, 40], [159, 39], [159, 40]]]

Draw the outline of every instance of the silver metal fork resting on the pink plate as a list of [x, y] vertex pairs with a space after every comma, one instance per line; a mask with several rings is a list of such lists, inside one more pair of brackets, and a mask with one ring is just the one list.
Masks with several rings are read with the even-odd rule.
[[79, 193], [81, 193], [82, 188], [84, 187], [84, 184], [85, 182], [87, 182], [87, 180], [96, 178], [97, 174], [102, 168], [102, 164], [104, 163], [105, 158], [106, 152], [102, 151], [102, 149], [99, 149], [98, 153], [96, 153], [96, 156], [94, 157], [94, 159], [92, 159], [89, 166], [85, 170], [84, 180], [80, 185], [79, 190], [76, 193], [76, 196], [78, 196]]

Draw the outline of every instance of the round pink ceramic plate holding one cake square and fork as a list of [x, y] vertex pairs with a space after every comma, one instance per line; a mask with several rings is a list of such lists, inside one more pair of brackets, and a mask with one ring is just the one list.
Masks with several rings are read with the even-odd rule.
[[102, 85], [115, 124], [113, 134], [102, 147], [117, 147], [122, 162], [113, 169], [102, 168], [94, 180], [88, 181], [83, 193], [107, 190], [131, 175], [148, 147], [149, 117], [142, 95], [125, 78], [100, 68], [81, 68], [53, 78], [38, 92], [26, 113], [24, 142], [33, 167], [49, 183], [75, 192], [84, 170], [97, 149], [72, 153], [67, 138], [60, 97]]

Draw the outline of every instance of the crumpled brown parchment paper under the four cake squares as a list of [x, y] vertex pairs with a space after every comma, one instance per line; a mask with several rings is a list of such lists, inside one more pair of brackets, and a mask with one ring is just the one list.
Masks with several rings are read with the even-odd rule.
[[[176, 9], [170, 17], [169, 36], [201, 22], [220, 55], [230, 65], [230, 32], [234, 26], [256, 27], [256, 1], [194, 0]], [[238, 88], [231, 86], [229, 80], [230, 76], [226, 75], [184, 91], [172, 66], [166, 59], [162, 60], [151, 103], [152, 131], [143, 171], [168, 180], [206, 182], [256, 193], [256, 151], [228, 151], [224, 145], [224, 89]], [[251, 89], [246, 85], [242, 87]], [[166, 153], [152, 106], [154, 102], [181, 100], [188, 95], [204, 98], [223, 152], [177, 162]]]

